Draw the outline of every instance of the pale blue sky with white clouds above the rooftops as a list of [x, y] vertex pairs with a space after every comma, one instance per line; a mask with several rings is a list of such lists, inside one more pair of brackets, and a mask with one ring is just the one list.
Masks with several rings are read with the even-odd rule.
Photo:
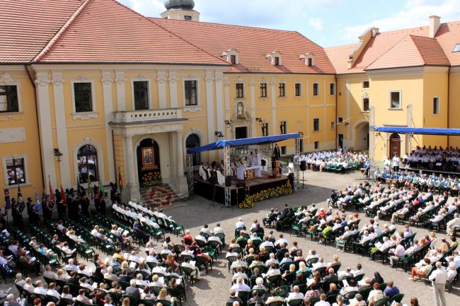
[[[163, 0], [117, 0], [147, 17], [165, 11]], [[357, 42], [375, 26], [381, 32], [428, 25], [428, 16], [441, 22], [459, 20], [458, 0], [195, 0], [200, 20], [294, 30], [322, 47]]]

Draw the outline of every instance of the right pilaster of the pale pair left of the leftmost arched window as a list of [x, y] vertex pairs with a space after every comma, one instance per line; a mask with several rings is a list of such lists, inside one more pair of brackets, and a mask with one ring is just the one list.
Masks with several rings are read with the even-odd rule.
[[57, 148], [59, 148], [59, 151], [64, 156], [64, 158], [62, 158], [61, 163], [59, 163], [59, 172], [61, 174], [60, 184], [62, 186], [71, 186], [70, 155], [69, 143], [67, 141], [67, 123], [63, 88], [64, 78], [62, 78], [62, 72], [53, 72], [51, 83], [54, 94], [54, 114], [56, 116]]

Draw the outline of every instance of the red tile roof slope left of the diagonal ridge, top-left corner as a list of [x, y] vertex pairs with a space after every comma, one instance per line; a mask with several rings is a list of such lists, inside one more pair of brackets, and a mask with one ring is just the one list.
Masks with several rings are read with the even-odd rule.
[[31, 61], [82, 0], [1, 0], [0, 63]]

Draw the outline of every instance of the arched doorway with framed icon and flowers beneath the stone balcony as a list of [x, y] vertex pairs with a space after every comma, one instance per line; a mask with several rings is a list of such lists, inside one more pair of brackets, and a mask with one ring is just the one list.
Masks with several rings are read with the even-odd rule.
[[161, 184], [160, 150], [153, 139], [144, 139], [137, 146], [137, 175], [140, 187]]

